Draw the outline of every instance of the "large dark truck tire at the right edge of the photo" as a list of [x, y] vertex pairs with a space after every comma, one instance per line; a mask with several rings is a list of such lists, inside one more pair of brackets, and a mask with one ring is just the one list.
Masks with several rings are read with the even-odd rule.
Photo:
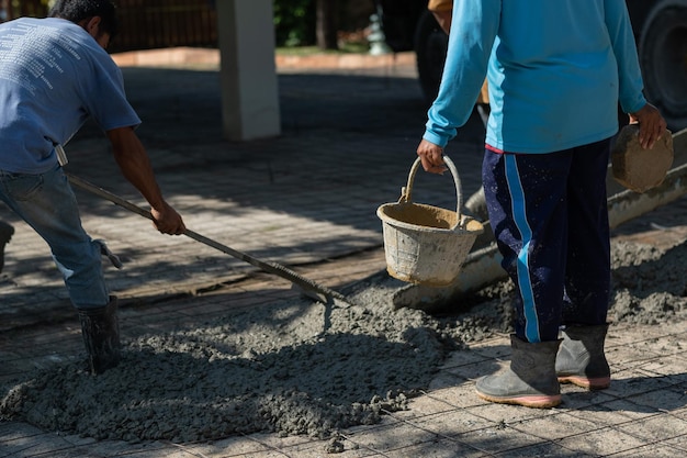
[[642, 26], [639, 55], [646, 99], [668, 129], [687, 127], [687, 0], [656, 2]]

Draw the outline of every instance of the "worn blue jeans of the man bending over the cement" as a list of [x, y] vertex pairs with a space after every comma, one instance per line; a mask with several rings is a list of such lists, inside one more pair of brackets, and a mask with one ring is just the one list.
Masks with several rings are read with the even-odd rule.
[[100, 245], [81, 226], [77, 199], [60, 166], [40, 175], [0, 170], [0, 199], [48, 244], [74, 306], [110, 302]]

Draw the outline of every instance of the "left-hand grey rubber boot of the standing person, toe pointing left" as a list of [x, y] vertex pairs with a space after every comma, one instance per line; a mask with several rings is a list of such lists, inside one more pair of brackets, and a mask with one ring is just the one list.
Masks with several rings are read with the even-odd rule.
[[510, 335], [510, 367], [482, 377], [475, 389], [486, 401], [547, 409], [561, 403], [561, 386], [555, 376], [555, 355], [561, 340], [530, 344]]

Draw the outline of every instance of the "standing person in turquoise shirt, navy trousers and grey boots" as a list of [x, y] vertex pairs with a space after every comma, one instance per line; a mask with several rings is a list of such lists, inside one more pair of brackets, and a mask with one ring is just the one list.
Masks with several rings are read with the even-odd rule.
[[492, 402], [554, 406], [560, 382], [610, 383], [606, 172], [618, 102], [640, 124], [645, 148], [666, 123], [642, 94], [624, 0], [455, 1], [439, 94], [417, 148], [425, 170], [444, 170], [443, 148], [485, 76], [482, 179], [516, 287], [515, 332], [510, 367], [475, 388]]

